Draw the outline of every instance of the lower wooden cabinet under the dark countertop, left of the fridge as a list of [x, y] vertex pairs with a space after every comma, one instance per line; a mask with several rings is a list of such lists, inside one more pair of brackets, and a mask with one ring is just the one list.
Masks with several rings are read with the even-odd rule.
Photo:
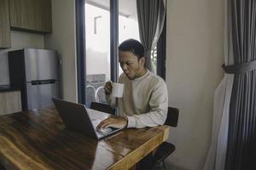
[[21, 111], [20, 91], [0, 92], [0, 116]]

